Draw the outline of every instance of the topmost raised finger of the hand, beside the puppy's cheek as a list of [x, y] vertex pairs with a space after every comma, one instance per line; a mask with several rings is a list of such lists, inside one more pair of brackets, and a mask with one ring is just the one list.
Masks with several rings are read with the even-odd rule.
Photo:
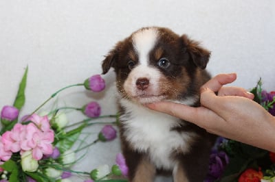
[[235, 79], [236, 73], [219, 74], [201, 86], [201, 90], [210, 88], [213, 92], [217, 92], [223, 85], [232, 83]]

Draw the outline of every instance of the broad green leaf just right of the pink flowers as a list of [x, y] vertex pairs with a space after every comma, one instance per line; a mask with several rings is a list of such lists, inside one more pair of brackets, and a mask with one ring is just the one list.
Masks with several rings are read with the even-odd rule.
[[87, 124], [80, 125], [76, 129], [73, 129], [72, 131], [65, 133], [65, 135], [58, 137], [58, 142], [56, 142], [55, 146], [61, 153], [64, 153], [65, 151], [72, 148], [76, 140], [78, 140], [81, 131], [86, 127], [86, 125]]

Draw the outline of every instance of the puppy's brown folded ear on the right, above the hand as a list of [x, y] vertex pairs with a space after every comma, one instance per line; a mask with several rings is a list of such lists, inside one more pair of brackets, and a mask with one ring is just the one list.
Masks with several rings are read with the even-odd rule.
[[185, 51], [190, 54], [195, 65], [201, 69], [206, 68], [211, 54], [210, 51], [201, 47], [199, 42], [190, 40], [186, 35], [181, 36], [181, 40], [184, 42]]

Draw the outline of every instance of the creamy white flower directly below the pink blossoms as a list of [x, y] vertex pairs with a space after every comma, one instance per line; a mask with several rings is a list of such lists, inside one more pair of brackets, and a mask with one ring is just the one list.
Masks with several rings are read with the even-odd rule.
[[23, 171], [34, 172], [39, 168], [39, 162], [32, 158], [32, 151], [25, 151], [21, 155], [21, 166]]

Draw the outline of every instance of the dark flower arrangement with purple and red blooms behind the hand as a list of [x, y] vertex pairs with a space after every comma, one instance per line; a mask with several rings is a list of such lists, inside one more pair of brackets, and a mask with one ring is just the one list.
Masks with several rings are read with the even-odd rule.
[[[254, 101], [275, 116], [275, 92], [262, 89], [261, 79], [251, 92]], [[275, 181], [275, 153], [219, 137], [212, 148], [205, 182]]]

